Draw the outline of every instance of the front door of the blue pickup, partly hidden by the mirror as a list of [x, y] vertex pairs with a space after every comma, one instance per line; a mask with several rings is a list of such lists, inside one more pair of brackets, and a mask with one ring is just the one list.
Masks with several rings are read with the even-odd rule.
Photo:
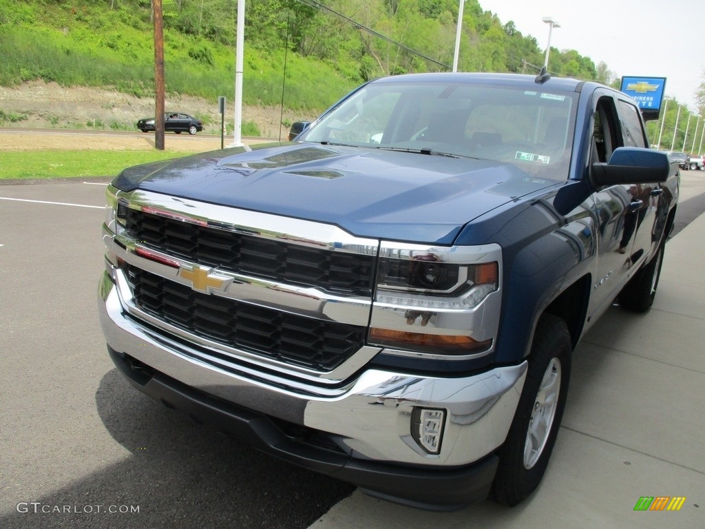
[[[596, 92], [590, 164], [607, 162], [617, 147], [623, 146], [615, 100], [611, 92]], [[595, 215], [599, 230], [597, 264], [590, 298], [589, 315], [600, 314], [611, 304], [630, 274], [630, 255], [634, 245], [636, 204], [632, 186], [611, 186], [594, 193]], [[632, 224], [634, 224], [632, 226]]]

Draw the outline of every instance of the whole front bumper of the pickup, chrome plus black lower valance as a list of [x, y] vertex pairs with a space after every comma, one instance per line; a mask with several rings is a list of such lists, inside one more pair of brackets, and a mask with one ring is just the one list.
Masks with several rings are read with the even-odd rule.
[[[526, 375], [526, 363], [447, 379], [369, 369], [331, 389], [244, 363], [224, 370], [130, 317], [109, 274], [99, 315], [111, 357], [145, 394], [291, 463], [434, 509], [486, 497]], [[439, 454], [413, 439], [415, 408], [446, 411]]]

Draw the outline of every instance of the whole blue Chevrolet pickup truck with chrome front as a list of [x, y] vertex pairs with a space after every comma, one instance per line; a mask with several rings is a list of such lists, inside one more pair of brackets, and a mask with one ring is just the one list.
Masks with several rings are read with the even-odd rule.
[[99, 313], [140, 391], [377, 497], [515, 505], [571, 355], [654, 300], [678, 168], [632, 99], [539, 75], [362, 85], [295, 142], [125, 169]]

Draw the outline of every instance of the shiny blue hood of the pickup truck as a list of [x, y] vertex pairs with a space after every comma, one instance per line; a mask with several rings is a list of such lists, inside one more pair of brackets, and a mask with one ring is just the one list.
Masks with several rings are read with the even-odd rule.
[[356, 236], [450, 244], [468, 221], [556, 184], [489, 160], [276, 145], [135, 166], [114, 185], [336, 224]]

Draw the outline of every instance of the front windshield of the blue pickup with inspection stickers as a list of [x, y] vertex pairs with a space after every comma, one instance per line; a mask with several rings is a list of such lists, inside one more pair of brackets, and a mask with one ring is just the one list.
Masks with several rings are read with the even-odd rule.
[[300, 140], [496, 160], [568, 175], [573, 92], [468, 83], [370, 83]]

